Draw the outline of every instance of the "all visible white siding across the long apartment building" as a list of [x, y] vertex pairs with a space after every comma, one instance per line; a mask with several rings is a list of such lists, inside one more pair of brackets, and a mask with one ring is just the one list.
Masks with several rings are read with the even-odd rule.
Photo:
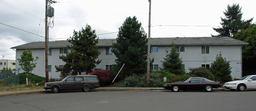
[[[204, 45], [202, 45], [204, 46]], [[209, 45], [206, 45], [209, 46]], [[168, 52], [167, 52], [168, 49]], [[31, 49], [33, 52], [33, 57], [38, 56], [37, 67], [33, 69], [32, 73], [35, 75], [45, 77], [45, 49]], [[98, 47], [101, 54], [98, 59], [102, 59], [101, 63], [96, 66], [99, 69], [106, 69], [106, 65], [116, 64], [116, 56], [106, 55], [106, 47]], [[16, 51], [16, 69], [18, 69], [19, 62], [17, 58], [20, 58], [24, 49], [17, 49]], [[70, 50], [69, 50], [70, 51]], [[154, 65], [162, 67], [163, 58], [167, 53], [170, 53], [171, 46], [159, 46], [158, 52], [150, 53], [150, 58], [154, 58]], [[182, 58], [185, 64], [185, 71], [188, 73], [189, 67], [201, 67], [202, 64], [211, 64], [215, 60], [217, 54], [221, 52], [223, 58], [230, 61], [230, 66], [232, 67], [231, 76], [233, 78], [241, 78], [241, 71], [236, 71], [236, 67], [241, 67], [241, 45], [210, 45], [210, 54], [201, 54], [201, 45], [198, 46], [185, 46], [185, 52], [180, 52], [180, 58]], [[52, 56], [48, 57], [48, 65], [52, 66], [52, 71], [49, 72], [49, 78], [60, 78], [60, 73], [56, 72], [55, 65], [64, 65], [61, 59], [59, 59], [59, 49], [52, 49]], [[65, 54], [64, 54], [65, 55]], [[20, 71], [21, 73], [22, 71]]]

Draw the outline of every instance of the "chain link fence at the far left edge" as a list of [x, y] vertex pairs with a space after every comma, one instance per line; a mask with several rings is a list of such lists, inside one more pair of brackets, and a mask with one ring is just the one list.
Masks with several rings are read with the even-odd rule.
[[19, 70], [0, 70], [0, 84], [19, 84]]

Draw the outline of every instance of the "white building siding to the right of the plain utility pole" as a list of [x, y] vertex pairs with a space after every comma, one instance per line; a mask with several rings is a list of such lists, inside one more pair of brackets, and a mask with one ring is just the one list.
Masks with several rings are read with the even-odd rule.
[[[202, 45], [204, 46], [204, 45]], [[208, 45], [209, 46], [209, 45]], [[150, 53], [150, 58], [154, 58], [153, 64], [158, 64], [159, 67], [163, 67], [161, 64], [165, 55], [170, 53], [171, 47], [159, 47], [158, 53]], [[210, 54], [201, 53], [201, 45], [198, 46], [185, 46], [185, 52], [180, 52], [180, 58], [182, 58], [185, 64], [185, 71], [188, 73], [189, 67], [201, 67], [202, 64], [210, 64], [215, 61], [216, 56], [221, 52], [222, 57], [230, 61], [232, 67], [231, 76], [233, 78], [241, 78], [241, 71], [236, 71], [236, 67], [241, 67], [241, 46], [240, 45], [211, 45]]]

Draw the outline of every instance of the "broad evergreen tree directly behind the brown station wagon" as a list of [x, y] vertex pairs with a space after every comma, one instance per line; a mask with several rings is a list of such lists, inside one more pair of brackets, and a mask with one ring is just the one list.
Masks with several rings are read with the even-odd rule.
[[97, 47], [98, 38], [90, 25], [86, 25], [85, 29], [82, 28], [78, 32], [74, 31], [73, 36], [67, 41], [71, 44], [67, 45], [71, 51], [59, 56], [66, 64], [63, 67], [55, 66], [57, 71], [72, 71], [72, 75], [81, 75], [82, 72], [91, 73], [96, 67], [95, 64], [100, 64], [101, 60], [96, 61], [100, 55]]

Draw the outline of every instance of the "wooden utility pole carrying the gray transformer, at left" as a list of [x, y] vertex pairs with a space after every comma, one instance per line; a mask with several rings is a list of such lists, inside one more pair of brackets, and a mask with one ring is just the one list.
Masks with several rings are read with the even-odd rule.
[[49, 82], [48, 73], [48, 24], [47, 24], [48, 0], [45, 0], [45, 82]]

